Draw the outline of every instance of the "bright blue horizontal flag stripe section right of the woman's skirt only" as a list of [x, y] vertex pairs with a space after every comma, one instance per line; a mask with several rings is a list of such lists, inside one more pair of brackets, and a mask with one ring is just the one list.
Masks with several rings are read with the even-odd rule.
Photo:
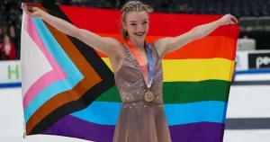
[[165, 105], [166, 118], [170, 126], [195, 122], [224, 123], [226, 111], [227, 102], [209, 101]]

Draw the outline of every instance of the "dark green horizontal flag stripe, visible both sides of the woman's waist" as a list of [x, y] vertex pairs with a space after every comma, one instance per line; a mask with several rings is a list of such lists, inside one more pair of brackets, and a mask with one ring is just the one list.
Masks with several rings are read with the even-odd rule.
[[[169, 103], [187, 103], [201, 101], [228, 102], [229, 82], [207, 80], [201, 82], [165, 82], [163, 100]], [[116, 86], [103, 93], [95, 101], [121, 102]]]

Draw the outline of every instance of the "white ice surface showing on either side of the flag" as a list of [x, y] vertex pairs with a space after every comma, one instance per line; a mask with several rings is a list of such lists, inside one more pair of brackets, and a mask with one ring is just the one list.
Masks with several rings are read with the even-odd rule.
[[[0, 89], [0, 142], [86, 142], [76, 138], [55, 136], [30, 136], [23, 139], [23, 108], [21, 88]], [[229, 93], [227, 118], [264, 119], [252, 124], [270, 124], [270, 85], [233, 85]], [[233, 129], [240, 126], [228, 124], [232, 129], [225, 130], [224, 142], [270, 142], [269, 129]]]

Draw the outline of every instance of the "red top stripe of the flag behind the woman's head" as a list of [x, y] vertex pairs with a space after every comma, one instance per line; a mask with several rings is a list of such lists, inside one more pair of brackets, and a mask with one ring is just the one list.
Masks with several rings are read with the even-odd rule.
[[[77, 27], [95, 33], [119, 34], [121, 13], [114, 10], [103, 10], [86, 7], [60, 5], [60, 8]], [[172, 13], [150, 13], [148, 36], [177, 36], [193, 27], [212, 22], [220, 15], [194, 15]], [[238, 26], [221, 26], [209, 36], [228, 36], [237, 38]]]

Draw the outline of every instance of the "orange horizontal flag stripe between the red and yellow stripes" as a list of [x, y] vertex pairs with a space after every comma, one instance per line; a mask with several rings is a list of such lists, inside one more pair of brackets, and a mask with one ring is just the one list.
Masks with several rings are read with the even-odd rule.
[[[102, 37], [112, 37], [116, 40], [121, 40], [119, 34], [99, 34]], [[148, 43], [154, 42], [161, 36], [148, 36], [146, 40]], [[194, 40], [193, 42], [185, 45], [182, 49], [175, 50], [166, 55], [165, 59], [184, 59], [184, 58], [227, 58], [234, 60], [235, 53], [231, 50], [235, 50], [237, 40], [234, 40], [225, 36], [209, 36], [202, 38], [201, 40]], [[211, 52], [210, 52], [211, 51]], [[107, 58], [102, 53], [98, 52], [102, 58]]]

